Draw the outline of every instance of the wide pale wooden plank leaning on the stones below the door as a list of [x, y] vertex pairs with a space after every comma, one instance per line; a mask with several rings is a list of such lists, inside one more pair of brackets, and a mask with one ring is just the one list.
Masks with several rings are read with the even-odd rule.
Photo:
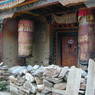
[[78, 95], [81, 82], [82, 70], [76, 67], [71, 67], [68, 79], [65, 95]]

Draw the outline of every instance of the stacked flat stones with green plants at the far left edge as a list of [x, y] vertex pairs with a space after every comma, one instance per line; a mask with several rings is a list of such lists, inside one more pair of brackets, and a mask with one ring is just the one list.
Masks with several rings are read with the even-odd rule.
[[8, 67], [4, 66], [4, 63], [0, 63], [0, 91], [8, 90], [9, 77]]

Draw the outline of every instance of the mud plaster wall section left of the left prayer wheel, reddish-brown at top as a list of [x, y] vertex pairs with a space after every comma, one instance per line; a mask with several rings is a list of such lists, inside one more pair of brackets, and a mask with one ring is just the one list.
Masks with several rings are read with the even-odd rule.
[[3, 62], [8, 66], [17, 64], [17, 22], [5, 19], [3, 27]]

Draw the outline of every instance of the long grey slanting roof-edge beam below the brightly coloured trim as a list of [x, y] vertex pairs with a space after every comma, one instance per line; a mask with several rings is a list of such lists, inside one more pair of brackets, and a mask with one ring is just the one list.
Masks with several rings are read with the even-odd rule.
[[38, 2], [34, 2], [28, 5], [24, 5], [24, 6], [20, 6], [20, 7], [15, 7], [15, 8], [11, 8], [10, 10], [1, 10], [0, 14], [10, 14], [13, 12], [21, 12], [21, 11], [29, 11], [29, 10], [33, 10], [33, 9], [38, 9], [38, 8], [43, 8], [49, 5], [54, 5], [54, 4], [58, 4], [59, 2], [57, 0], [39, 0]]

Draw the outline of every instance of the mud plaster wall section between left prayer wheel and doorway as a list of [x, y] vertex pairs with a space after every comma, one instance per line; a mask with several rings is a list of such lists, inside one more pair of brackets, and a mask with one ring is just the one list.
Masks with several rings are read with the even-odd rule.
[[34, 23], [32, 57], [27, 59], [28, 64], [48, 65], [49, 63], [49, 25], [45, 18], [38, 18]]

